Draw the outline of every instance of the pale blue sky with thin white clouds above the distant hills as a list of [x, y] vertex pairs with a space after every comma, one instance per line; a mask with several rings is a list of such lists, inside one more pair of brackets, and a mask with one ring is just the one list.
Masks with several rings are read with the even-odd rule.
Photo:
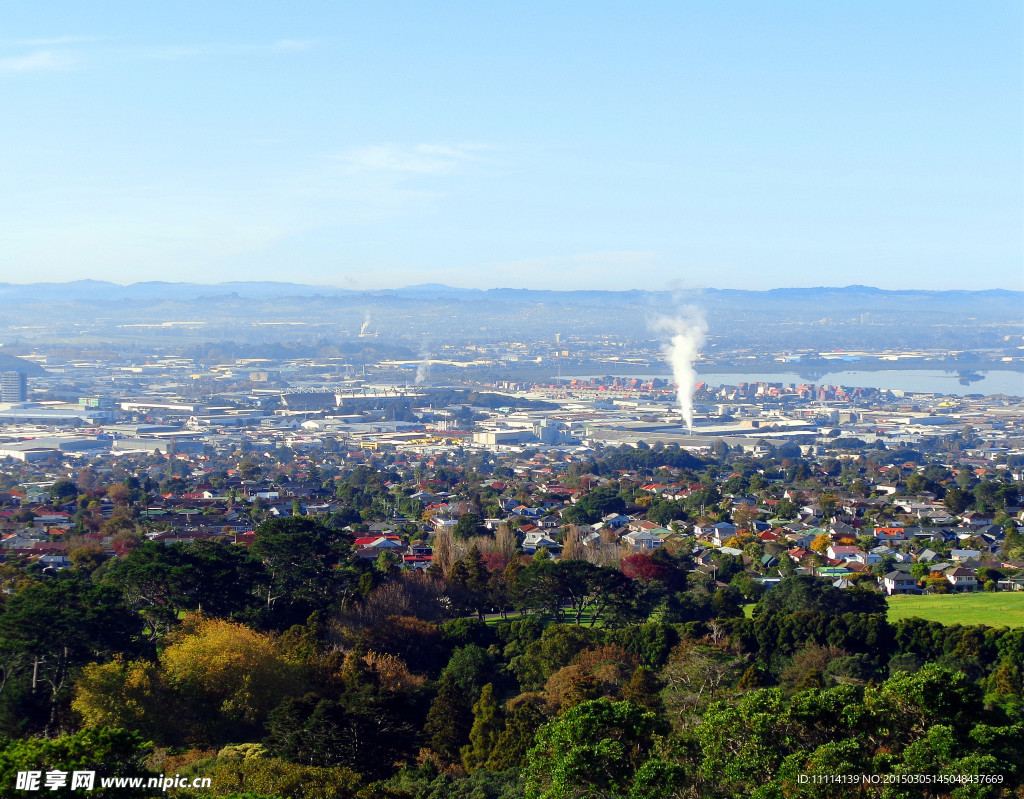
[[0, 281], [1024, 288], [1022, 8], [0, 12]]

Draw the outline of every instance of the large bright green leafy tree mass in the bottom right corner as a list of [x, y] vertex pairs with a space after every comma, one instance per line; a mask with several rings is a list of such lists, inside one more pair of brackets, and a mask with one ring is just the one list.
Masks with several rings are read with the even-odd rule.
[[865, 687], [841, 684], [792, 697], [758, 689], [703, 714], [694, 729], [697, 771], [705, 794], [724, 796], [825, 799], [834, 785], [790, 789], [801, 773], [956, 773], [985, 762], [1014, 784], [1022, 764], [1020, 727], [986, 720], [977, 684], [931, 664]]

